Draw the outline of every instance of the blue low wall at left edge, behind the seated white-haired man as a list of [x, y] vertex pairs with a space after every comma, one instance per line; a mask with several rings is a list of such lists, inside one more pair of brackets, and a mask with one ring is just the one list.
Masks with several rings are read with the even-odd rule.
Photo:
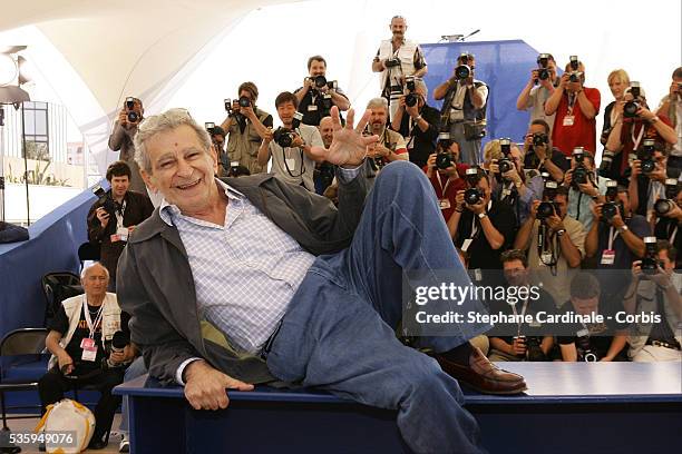
[[42, 325], [40, 278], [50, 272], [78, 273], [78, 246], [88, 239], [86, 217], [95, 200], [86, 190], [31, 225], [28, 241], [0, 245], [0, 336]]

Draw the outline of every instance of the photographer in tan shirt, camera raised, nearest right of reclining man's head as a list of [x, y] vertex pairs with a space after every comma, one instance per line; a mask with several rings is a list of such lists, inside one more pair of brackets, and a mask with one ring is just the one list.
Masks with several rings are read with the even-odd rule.
[[225, 121], [221, 125], [227, 134], [227, 158], [237, 161], [253, 174], [266, 171], [259, 165], [257, 155], [262, 139], [272, 128], [272, 116], [257, 108], [259, 89], [253, 82], [244, 82], [238, 89], [240, 99], [234, 99]]

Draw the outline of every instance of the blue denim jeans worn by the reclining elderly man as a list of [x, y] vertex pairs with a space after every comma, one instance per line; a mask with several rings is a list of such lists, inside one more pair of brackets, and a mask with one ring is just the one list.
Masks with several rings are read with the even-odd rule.
[[[397, 409], [402, 437], [417, 453], [481, 452], [478, 425], [462, 408], [457, 381], [396, 337], [402, 279], [415, 269], [450, 269], [458, 284], [469, 283], [430, 182], [417, 166], [393, 162], [378, 176], [352, 245], [319, 257], [308, 272], [267, 366], [281, 379]], [[481, 307], [465, 302], [462, 309]], [[445, 352], [489, 326], [468, 328], [421, 340]]]

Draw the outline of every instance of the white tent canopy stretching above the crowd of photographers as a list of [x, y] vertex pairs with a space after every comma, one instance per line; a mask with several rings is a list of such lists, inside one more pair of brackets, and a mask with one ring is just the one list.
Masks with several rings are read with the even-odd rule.
[[524, 39], [559, 62], [578, 55], [603, 106], [611, 100], [607, 73], [625, 68], [655, 107], [681, 60], [681, 3], [634, 0], [617, 8], [587, 0], [546, 7], [532, 0], [23, 0], [2, 8], [0, 45], [29, 46], [33, 99], [68, 108], [101, 168], [116, 157], [107, 138], [126, 96], [142, 98], [147, 114], [182, 106], [201, 121], [220, 121], [222, 99], [254, 80], [261, 107], [274, 112], [276, 93], [299, 87], [308, 57], [321, 53], [331, 77], [363, 107], [378, 92], [370, 61], [396, 13], [420, 42], [481, 29], [477, 40]]

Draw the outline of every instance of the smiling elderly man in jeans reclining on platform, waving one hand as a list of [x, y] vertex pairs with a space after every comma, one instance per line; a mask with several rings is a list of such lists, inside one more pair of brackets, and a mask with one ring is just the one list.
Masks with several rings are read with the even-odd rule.
[[[313, 147], [338, 166], [337, 208], [272, 175], [217, 179], [211, 139], [186, 110], [147, 118], [136, 159], [164, 201], [119, 263], [133, 342], [150, 375], [184, 385], [197, 409], [225, 408], [227, 388], [276, 379], [397, 409], [415, 452], [480, 452], [458, 379], [494, 394], [526, 384], [468, 343], [487, 324], [418, 337], [430, 356], [397, 338], [401, 283], [418, 279], [410, 274], [432, 285], [437, 270], [470, 280], [418, 167], [390, 164], [370, 190], [368, 119], [354, 126], [351, 110], [342, 127], [332, 108], [333, 141]], [[450, 309], [484, 310], [476, 300]]]

